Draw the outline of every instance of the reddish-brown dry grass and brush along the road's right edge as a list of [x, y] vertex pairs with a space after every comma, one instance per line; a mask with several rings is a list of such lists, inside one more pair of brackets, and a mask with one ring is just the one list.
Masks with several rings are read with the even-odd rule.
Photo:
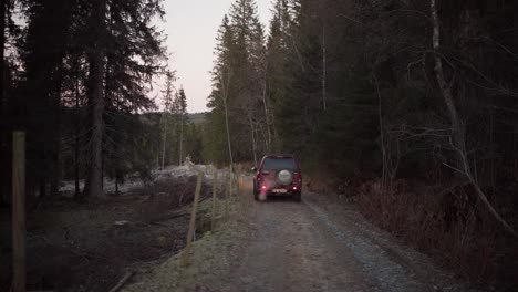
[[[364, 215], [383, 229], [472, 281], [497, 281], [505, 265], [498, 255], [508, 251], [506, 244], [498, 244], [499, 229], [478, 211], [469, 186], [415, 187], [400, 180], [392, 191], [382, 191], [380, 181], [369, 181], [358, 188], [358, 194]], [[516, 257], [516, 252], [508, 255]]]

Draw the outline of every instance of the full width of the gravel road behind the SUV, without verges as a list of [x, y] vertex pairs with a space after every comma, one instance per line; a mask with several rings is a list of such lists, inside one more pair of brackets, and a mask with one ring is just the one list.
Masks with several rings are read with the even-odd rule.
[[362, 230], [361, 215], [334, 218], [317, 196], [252, 202], [238, 291], [475, 291], [395, 254]]

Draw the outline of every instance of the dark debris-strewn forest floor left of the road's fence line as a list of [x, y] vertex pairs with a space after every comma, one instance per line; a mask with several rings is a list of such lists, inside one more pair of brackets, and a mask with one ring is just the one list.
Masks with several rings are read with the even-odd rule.
[[[159, 177], [153, 197], [138, 184], [127, 185], [124, 194], [104, 200], [75, 201], [63, 194], [28, 211], [28, 291], [108, 291], [126, 271], [154, 265], [185, 247], [196, 177], [187, 171]], [[210, 194], [204, 184], [203, 198]], [[197, 234], [210, 228], [206, 205]], [[0, 216], [0, 291], [9, 291], [10, 215]]]

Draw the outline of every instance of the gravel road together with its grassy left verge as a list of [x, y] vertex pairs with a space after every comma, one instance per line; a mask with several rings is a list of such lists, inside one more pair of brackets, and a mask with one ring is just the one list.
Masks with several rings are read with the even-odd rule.
[[257, 202], [248, 188], [232, 210], [190, 265], [176, 254], [123, 291], [479, 291], [330, 197]]

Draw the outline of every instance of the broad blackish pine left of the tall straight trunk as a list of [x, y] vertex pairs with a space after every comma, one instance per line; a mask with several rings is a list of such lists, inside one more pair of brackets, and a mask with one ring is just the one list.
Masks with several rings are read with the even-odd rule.
[[[58, 192], [63, 63], [75, 4], [76, 1], [64, 0], [24, 2], [27, 36], [19, 50], [24, 65], [21, 87], [28, 112], [28, 160], [33, 166], [29, 177], [31, 185], [39, 185], [42, 197], [49, 186], [52, 194]], [[46, 33], [49, 30], [52, 33]]]

